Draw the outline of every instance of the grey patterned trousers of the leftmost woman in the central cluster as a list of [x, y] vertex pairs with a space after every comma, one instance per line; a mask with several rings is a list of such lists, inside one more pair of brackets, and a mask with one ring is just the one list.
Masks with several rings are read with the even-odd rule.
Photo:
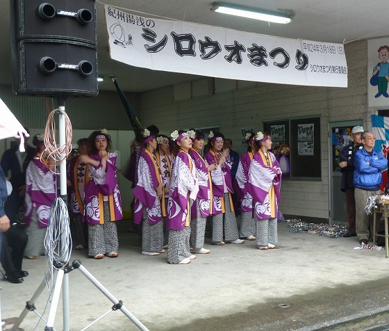
[[163, 250], [163, 221], [149, 223], [147, 209], [143, 207], [142, 220], [142, 252], [156, 252]]

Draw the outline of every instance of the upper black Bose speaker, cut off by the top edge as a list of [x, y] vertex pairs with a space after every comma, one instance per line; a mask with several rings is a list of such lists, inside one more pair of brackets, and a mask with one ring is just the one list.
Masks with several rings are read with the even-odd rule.
[[16, 1], [17, 40], [47, 38], [97, 44], [94, 0], [46, 1]]

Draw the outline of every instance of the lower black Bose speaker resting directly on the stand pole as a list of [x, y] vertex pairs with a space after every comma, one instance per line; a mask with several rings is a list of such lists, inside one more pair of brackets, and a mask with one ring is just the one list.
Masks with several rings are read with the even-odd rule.
[[22, 40], [17, 47], [19, 94], [97, 95], [95, 47], [81, 42], [46, 39]]

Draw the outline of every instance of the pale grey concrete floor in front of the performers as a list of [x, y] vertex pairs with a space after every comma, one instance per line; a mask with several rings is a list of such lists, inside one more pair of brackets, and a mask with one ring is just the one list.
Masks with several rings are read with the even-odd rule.
[[[206, 238], [209, 255], [197, 255], [190, 265], [169, 265], [166, 254], [140, 254], [140, 237], [127, 232], [128, 222], [118, 227], [118, 258], [88, 259], [85, 250], [74, 250], [70, 261], [81, 259], [149, 330], [320, 330], [389, 309], [389, 259], [384, 250], [354, 250], [355, 237], [295, 234], [288, 223], [279, 223], [276, 250], [258, 250], [253, 241], [215, 246]], [[47, 263], [44, 257], [25, 259], [23, 268], [30, 275], [22, 284], [0, 282], [1, 318], [8, 323], [38, 289]], [[46, 317], [48, 298], [44, 289], [35, 302]], [[71, 330], [81, 330], [113, 306], [78, 270], [69, 273], [69, 302]], [[44, 330], [46, 323], [38, 323], [28, 312], [21, 328]], [[62, 299], [54, 328], [63, 330]], [[138, 328], [116, 311], [89, 330]]]

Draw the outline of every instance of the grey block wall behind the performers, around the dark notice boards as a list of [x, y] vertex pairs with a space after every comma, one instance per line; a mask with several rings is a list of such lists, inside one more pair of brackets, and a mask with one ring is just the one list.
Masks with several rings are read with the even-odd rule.
[[215, 80], [201, 79], [201, 84], [208, 84], [207, 88], [202, 86], [202, 91], [210, 91], [203, 97], [193, 97], [200, 93], [192, 90], [191, 99], [175, 101], [174, 91], [183, 90], [185, 86], [168, 86], [138, 95], [140, 121], [144, 125], [156, 124], [163, 133], [183, 127], [220, 125], [225, 136], [238, 142], [235, 146], [240, 152], [242, 128], [260, 130], [265, 120], [319, 115], [322, 178], [320, 181], [284, 180], [280, 209], [288, 215], [328, 220], [329, 122], [363, 119], [367, 126], [367, 119], [374, 111], [367, 109], [367, 42], [345, 45], [345, 51], [348, 88], [247, 83], [248, 86], [254, 86], [239, 89], [239, 86], [245, 84], [237, 82], [235, 86], [238, 89], [217, 92], [212, 85]]

